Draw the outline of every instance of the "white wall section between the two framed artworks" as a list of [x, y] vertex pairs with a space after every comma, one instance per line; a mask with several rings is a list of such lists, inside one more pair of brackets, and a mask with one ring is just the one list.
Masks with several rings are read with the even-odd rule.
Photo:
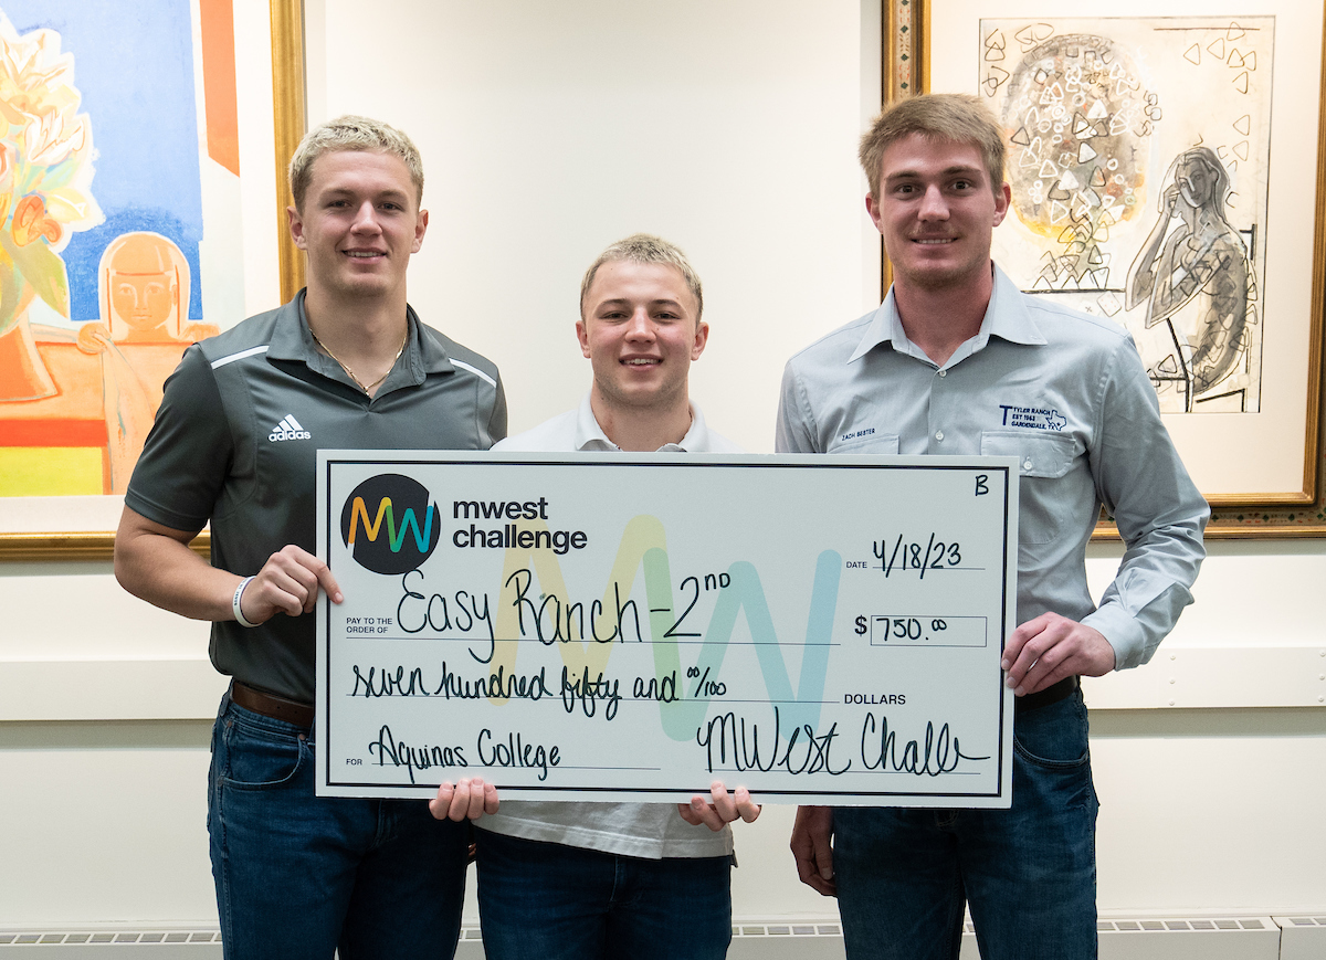
[[[704, 281], [711, 335], [693, 396], [716, 430], [772, 450], [784, 361], [879, 304], [855, 162], [879, 109], [878, 3], [374, 11], [308, 4], [309, 119], [367, 113], [418, 142], [432, 219], [410, 300], [497, 362], [512, 430], [589, 387], [573, 330], [581, 276], [610, 243], [648, 231]], [[374, 50], [390, 57], [365, 82], [354, 65]]]

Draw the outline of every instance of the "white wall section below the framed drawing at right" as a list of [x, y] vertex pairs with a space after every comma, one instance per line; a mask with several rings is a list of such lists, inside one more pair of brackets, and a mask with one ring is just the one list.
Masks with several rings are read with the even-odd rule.
[[[1101, 910], [1321, 911], [1326, 541], [1207, 546], [1193, 606], [1151, 663], [1087, 684]], [[1095, 595], [1120, 556], [1091, 548]], [[1109, 708], [1144, 696], [1160, 705]], [[1185, 697], [1228, 705], [1166, 705]]]

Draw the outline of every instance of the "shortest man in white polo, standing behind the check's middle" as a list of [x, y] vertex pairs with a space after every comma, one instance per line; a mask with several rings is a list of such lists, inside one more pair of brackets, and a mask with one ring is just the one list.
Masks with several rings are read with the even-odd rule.
[[[594, 369], [589, 394], [496, 448], [740, 452], [690, 400], [690, 366], [709, 335], [703, 306], [700, 280], [672, 244], [638, 233], [609, 247], [585, 273], [575, 322]], [[724, 957], [727, 825], [753, 821], [760, 808], [745, 789], [728, 794], [721, 784], [711, 800], [508, 801], [484, 817], [479, 911], [488, 960]]]

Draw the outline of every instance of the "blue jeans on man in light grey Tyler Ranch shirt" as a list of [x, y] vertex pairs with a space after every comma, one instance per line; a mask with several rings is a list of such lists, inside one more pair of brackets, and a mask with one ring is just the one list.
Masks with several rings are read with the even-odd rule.
[[1098, 806], [1075, 692], [1018, 713], [1012, 809], [835, 809], [847, 956], [956, 960], [967, 900], [983, 960], [1095, 957]]

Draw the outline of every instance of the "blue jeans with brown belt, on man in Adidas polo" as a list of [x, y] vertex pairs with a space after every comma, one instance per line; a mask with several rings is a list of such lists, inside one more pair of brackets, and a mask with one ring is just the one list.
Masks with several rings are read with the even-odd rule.
[[313, 794], [312, 732], [231, 703], [207, 809], [227, 959], [451, 957], [468, 823], [419, 800]]

